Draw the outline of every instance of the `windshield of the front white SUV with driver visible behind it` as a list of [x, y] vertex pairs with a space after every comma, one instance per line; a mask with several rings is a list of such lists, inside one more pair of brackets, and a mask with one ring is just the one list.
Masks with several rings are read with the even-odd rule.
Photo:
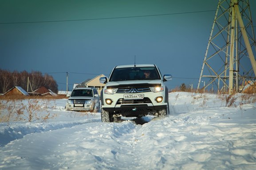
[[109, 81], [161, 79], [155, 67], [115, 68]]

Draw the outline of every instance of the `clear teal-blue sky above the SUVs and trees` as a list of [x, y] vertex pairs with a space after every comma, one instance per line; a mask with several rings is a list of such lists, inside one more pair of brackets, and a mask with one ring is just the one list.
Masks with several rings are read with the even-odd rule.
[[[197, 87], [218, 4], [218, 0], [0, 2], [0, 68], [49, 74], [63, 91], [67, 72], [71, 90], [74, 83], [109, 76], [116, 65], [134, 64], [134, 56], [136, 64], [156, 64], [162, 75], [173, 75], [167, 83], [170, 89], [181, 83]], [[256, 8], [256, 1], [251, 0], [250, 6]], [[251, 12], [256, 23], [256, 11]]]

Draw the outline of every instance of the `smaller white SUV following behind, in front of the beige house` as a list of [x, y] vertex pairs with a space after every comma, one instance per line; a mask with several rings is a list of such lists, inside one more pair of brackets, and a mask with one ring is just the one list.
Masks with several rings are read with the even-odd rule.
[[77, 87], [71, 92], [66, 110], [97, 112], [100, 108], [98, 91], [92, 87]]

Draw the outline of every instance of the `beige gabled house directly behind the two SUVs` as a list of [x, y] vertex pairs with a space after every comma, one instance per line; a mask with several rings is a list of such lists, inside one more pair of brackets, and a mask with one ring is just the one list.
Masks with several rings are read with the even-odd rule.
[[87, 79], [85, 80], [84, 82], [82, 83], [79, 83], [79, 84], [74, 84], [74, 88], [75, 87], [94, 87], [97, 89], [98, 91], [98, 94], [100, 95], [100, 92], [101, 90], [103, 89], [103, 87], [106, 85], [106, 84], [103, 84], [103, 83], [100, 83], [99, 82], [99, 78], [101, 77], [106, 77], [105, 75], [101, 74], [99, 76], [96, 76], [95, 78], [93, 79]]

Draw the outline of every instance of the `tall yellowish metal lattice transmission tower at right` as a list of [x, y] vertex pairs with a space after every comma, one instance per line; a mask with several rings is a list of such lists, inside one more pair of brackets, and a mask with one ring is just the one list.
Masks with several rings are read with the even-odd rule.
[[232, 94], [244, 83], [255, 85], [253, 28], [249, 0], [219, 0], [197, 90], [217, 86], [218, 93]]

